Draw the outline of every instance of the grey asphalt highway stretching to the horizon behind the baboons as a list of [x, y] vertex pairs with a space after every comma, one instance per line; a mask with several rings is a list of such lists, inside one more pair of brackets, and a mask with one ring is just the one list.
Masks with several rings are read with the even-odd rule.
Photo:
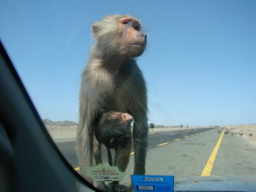
[[[227, 134], [223, 129], [188, 129], [184, 131], [150, 132], [147, 152], [147, 175], [174, 175], [175, 180], [198, 177], [213, 154], [216, 144], [220, 146], [212, 161], [210, 175], [240, 176], [256, 175], [256, 147], [239, 134]], [[76, 141], [56, 143], [70, 164], [77, 167]], [[106, 161], [106, 160], [105, 160]], [[123, 184], [129, 186], [133, 172], [134, 156], [124, 176]]]

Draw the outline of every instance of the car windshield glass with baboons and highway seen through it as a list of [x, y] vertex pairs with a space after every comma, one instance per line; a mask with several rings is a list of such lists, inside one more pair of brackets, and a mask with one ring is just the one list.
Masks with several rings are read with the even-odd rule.
[[[171, 175], [178, 191], [253, 191], [256, 1], [2, 1], [0, 22], [46, 129], [84, 179], [105, 190]], [[93, 176], [108, 168], [117, 180]]]

